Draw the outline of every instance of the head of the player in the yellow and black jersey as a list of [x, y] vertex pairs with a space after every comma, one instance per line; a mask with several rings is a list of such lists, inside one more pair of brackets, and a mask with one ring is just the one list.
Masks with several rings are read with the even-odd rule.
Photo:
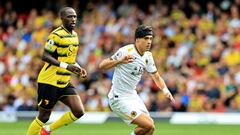
[[77, 14], [75, 10], [67, 9], [65, 11], [65, 14], [62, 16], [62, 21], [64, 27], [66, 27], [69, 30], [73, 30], [77, 21]]

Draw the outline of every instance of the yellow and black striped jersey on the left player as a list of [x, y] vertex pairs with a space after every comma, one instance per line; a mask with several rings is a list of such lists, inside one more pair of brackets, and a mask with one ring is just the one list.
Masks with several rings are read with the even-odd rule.
[[[74, 64], [78, 52], [79, 40], [76, 32], [70, 33], [63, 26], [53, 30], [48, 36], [44, 50], [52, 54], [59, 62]], [[70, 82], [71, 72], [45, 62], [38, 75], [38, 83], [50, 84], [59, 88]]]

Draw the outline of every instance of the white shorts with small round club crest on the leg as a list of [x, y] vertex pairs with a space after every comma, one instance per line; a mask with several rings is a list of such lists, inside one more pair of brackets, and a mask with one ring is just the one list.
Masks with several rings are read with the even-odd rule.
[[139, 96], [111, 98], [109, 105], [114, 113], [116, 113], [128, 125], [132, 123], [140, 114], [149, 112]]

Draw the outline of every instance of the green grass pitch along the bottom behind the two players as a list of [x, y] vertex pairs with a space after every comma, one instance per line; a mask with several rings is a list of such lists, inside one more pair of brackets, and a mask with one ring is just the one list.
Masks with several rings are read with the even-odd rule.
[[[31, 121], [0, 123], [0, 135], [25, 135]], [[172, 125], [156, 122], [155, 135], [239, 135], [240, 125]], [[72, 124], [52, 135], [129, 135], [133, 127], [123, 122], [108, 121], [104, 124]]]

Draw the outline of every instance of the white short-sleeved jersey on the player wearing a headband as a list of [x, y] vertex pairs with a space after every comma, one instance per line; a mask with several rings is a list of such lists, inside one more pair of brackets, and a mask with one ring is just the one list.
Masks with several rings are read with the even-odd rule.
[[128, 97], [137, 94], [135, 89], [144, 71], [146, 70], [149, 73], [157, 71], [152, 53], [147, 51], [141, 56], [134, 44], [120, 48], [111, 58], [119, 60], [128, 54], [134, 57], [134, 61], [127, 64], [119, 64], [115, 67], [112, 88], [108, 94], [109, 98], [115, 95], [119, 97]]

